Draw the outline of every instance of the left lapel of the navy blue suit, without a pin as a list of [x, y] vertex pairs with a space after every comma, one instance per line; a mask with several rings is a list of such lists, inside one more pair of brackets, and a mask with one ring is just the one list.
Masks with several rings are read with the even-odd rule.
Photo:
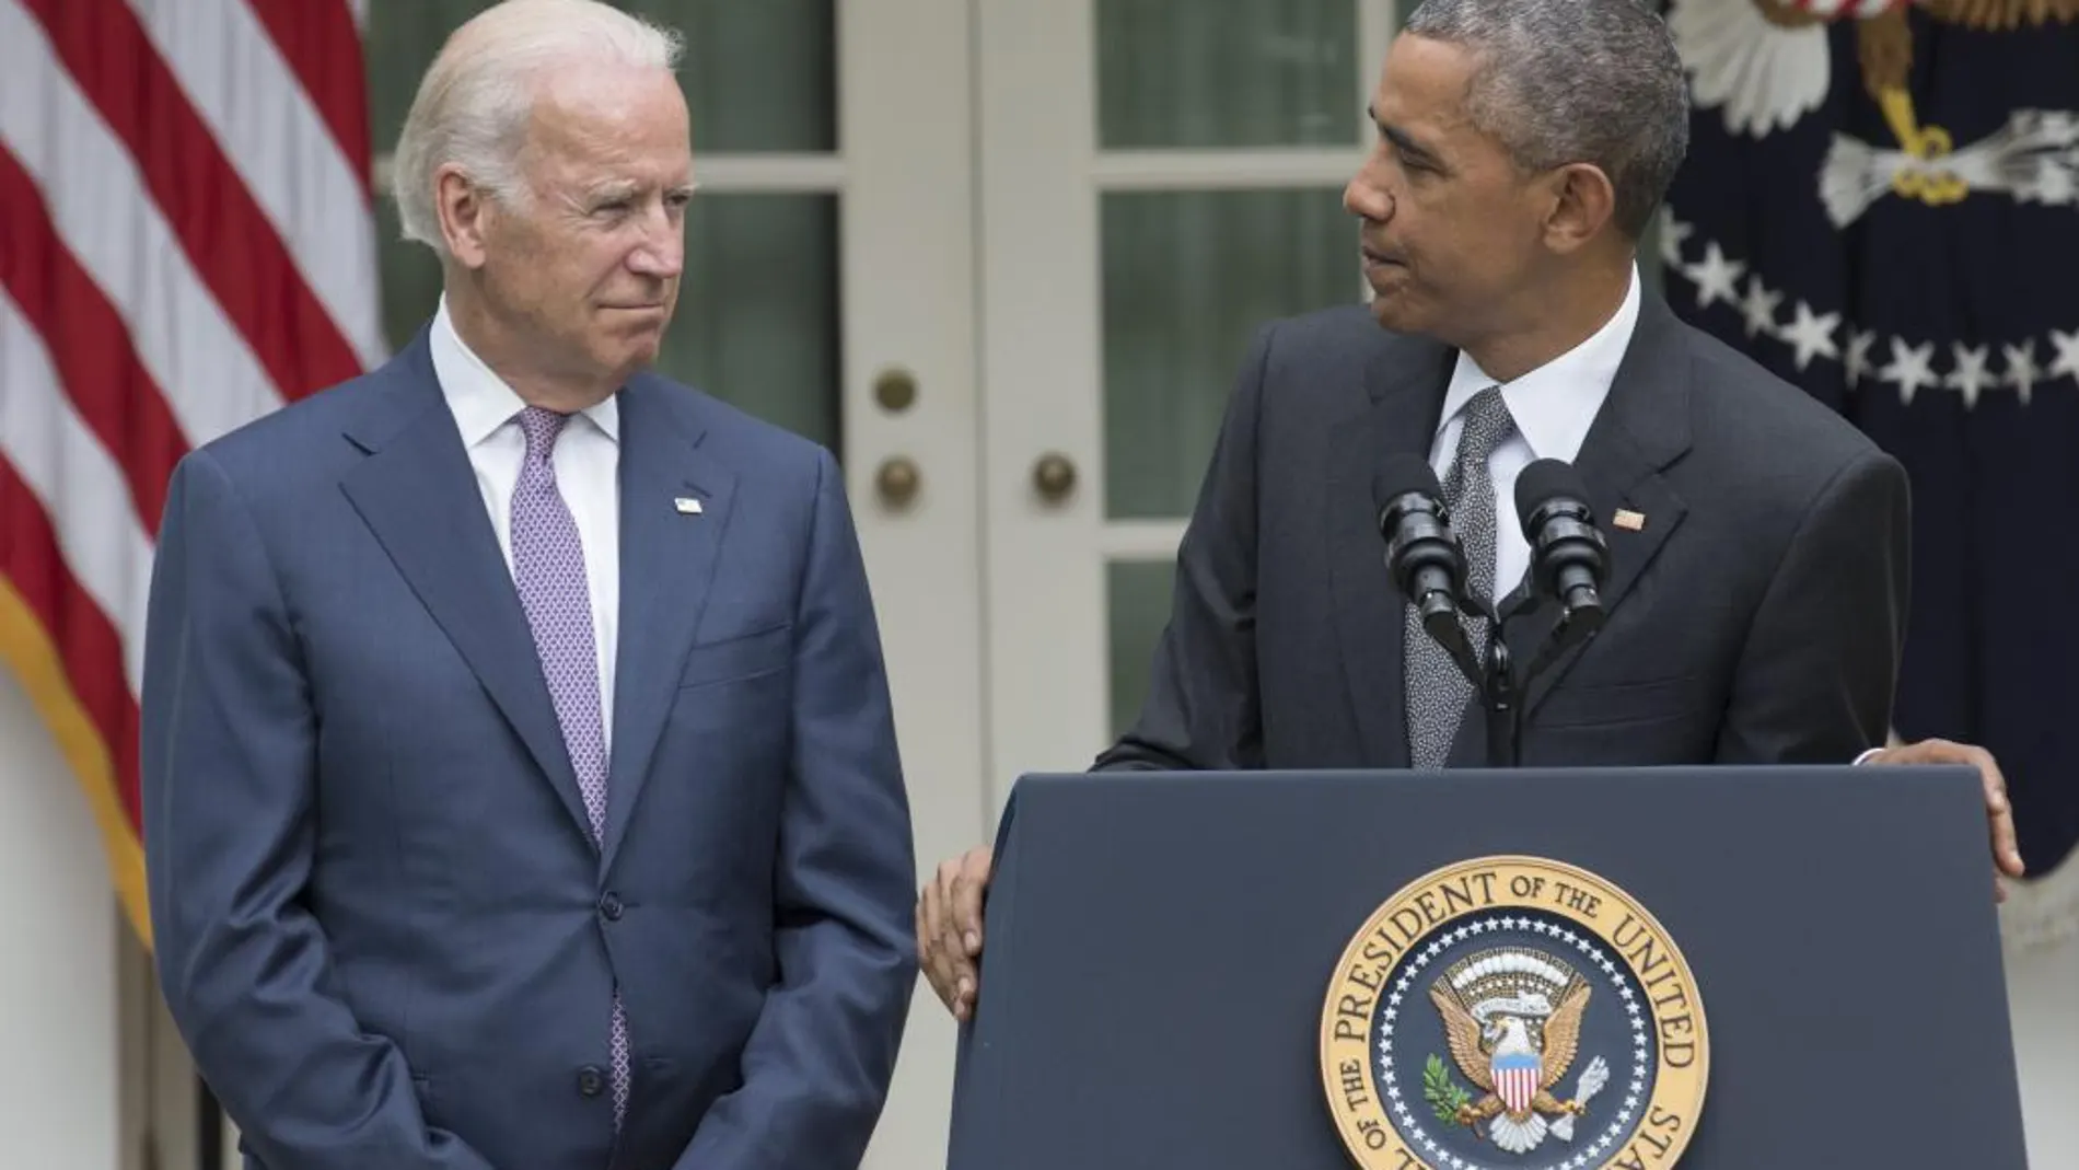
[[368, 459], [341, 488], [590, 840], [534, 636], [432, 374], [424, 333], [395, 370], [389, 397], [347, 430]]

